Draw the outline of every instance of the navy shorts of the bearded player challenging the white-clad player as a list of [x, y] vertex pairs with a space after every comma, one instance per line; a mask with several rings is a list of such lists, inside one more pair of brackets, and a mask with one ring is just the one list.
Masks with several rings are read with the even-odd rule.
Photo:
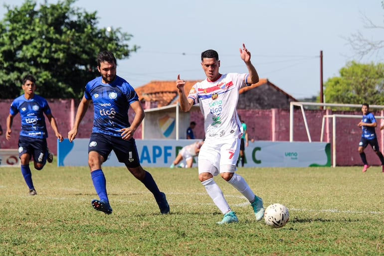
[[88, 153], [96, 151], [107, 161], [111, 151], [115, 152], [120, 163], [129, 168], [136, 168], [140, 165], [135, 139], [123, 140], [121, 137], [92, 133], [89, 139]]

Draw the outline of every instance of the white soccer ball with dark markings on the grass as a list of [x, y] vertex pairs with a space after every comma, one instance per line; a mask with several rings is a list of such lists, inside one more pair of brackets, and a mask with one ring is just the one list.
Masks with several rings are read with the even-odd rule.
[[272, 228], [281, 228], [289, 221], [288, 208], [282, 204], [272, 204], [265, 209], [264, 220]]

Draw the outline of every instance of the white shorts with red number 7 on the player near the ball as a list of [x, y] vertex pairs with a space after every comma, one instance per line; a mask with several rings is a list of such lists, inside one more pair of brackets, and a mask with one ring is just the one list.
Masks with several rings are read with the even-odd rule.
[[234, 173], [240, 154], [240, 139], [228, 138], [218, 141], [205, 141], [198, 154], [198, 173]]

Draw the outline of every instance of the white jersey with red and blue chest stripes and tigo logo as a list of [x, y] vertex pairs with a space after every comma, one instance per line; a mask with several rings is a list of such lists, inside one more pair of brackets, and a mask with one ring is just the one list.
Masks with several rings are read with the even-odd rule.
[[243, 133], [236, 106], [240, 88], [248, 74], [228, 73], [214, 81], [207, 79], [193, 85], [188, 98], [200, 103], [204, 116], [205, 140], [239, 138]]

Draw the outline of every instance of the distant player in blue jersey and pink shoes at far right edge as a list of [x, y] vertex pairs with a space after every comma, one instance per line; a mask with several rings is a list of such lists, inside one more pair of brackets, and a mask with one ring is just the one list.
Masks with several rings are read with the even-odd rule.
[[367, 162], [366, 153], [364, 153], [364, 149], [368, 146], [368, 144], [371, 145], [372, 149], [379, 156], [384, 172], [384, 157], [382, 152], [379, 150], [379, 143], [375, 131], [378, 124], [374, 114], [370, 112], [370, 106], [367, 103], [362, 105], [362, 112], [363, 119], [359, 122], [358, 126], [362, 128], [362, 138], [359, 142], [359, 153], [364, 163], [363, 173], [367, 172], [367, 169], [370, 167]]

